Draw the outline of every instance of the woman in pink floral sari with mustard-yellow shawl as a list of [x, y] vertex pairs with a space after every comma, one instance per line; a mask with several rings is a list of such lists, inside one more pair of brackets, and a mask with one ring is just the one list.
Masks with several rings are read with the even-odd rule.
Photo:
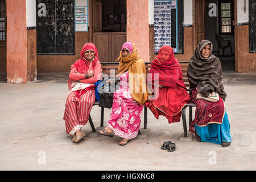
[[[122, 138], [119, 144], [124, 146], [137, 137], [141, 126], [142, 110], [144, 102], [147, 101], [146, 67], [143, 59], [138, 57], [137, 48], [131, 42], [123, 44], [117, 60], [120, 60], [118, 66], [120, 87], [114, 92], [108, 126], [98, 133], [109, 135], [114, 132]], [[141, 78], [141, 82], [136, 81], [138, 77]]]

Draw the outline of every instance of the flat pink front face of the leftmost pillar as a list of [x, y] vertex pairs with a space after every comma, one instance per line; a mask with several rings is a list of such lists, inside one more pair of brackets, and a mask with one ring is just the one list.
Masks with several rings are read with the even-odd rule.
[[26, 0], [6, 1], [7, 82], [27, 82]]

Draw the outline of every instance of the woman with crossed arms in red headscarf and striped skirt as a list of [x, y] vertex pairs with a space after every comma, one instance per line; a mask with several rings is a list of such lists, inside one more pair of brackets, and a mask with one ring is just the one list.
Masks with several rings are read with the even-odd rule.
[[93, 43], [86, 43], [82, 47], [81, 59], [71, 65], [69, 73], [69, 93], [65, 104], [66, 133], [72, 136], [72, 142], [77, 143], [85, 133], [81, 131], [89, 120], [90, 110], [95, 101], [95, 86], [101, 79], [101, 64], [98, 51]]

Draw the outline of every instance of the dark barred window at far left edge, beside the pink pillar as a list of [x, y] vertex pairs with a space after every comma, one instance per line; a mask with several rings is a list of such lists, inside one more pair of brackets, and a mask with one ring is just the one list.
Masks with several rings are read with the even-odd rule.
[[6, 42], [6, 0], [0, 0], [0, 43]]

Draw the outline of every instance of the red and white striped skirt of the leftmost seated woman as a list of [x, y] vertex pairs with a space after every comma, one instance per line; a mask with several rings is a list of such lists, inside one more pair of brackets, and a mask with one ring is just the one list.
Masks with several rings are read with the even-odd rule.
[[68, 135], [73, 136], [88, 122], [94, 101], [95, 90], [87, 90], [79, 99], [75, 92], [68, 94], [63, 117]]

